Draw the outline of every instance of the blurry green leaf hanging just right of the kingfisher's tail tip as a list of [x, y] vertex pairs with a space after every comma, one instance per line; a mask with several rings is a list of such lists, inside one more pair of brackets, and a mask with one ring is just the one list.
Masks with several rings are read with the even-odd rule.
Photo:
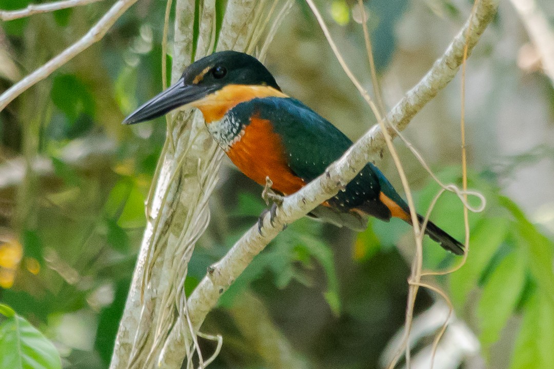
[[468, 259], [451, 274], [450, 290], [453, 303], [464, 306], [470, 291], [478, 281], [496, 250], [507, 237], [510, 221], [505, 218], [485, 218], [471, 232]]

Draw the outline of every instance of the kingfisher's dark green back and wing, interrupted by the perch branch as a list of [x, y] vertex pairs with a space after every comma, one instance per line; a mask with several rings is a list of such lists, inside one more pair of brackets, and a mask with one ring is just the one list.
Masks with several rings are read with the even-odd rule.
[[[265, 97], [242, 103], [233, 111], [243, 117], [258, 116], [273, 124], [283, 142], [290, 169], [309, 182], [324, 173], [352, 145], [341, 131], [329, 121], [294, 98]], [[388, 220], [390, 211], [379, 201], [379, 192], [394, 201], [404, 201], [375, 165], [368, 164], [329, 204], [338, 212], [360, 209], [370, 215]]]

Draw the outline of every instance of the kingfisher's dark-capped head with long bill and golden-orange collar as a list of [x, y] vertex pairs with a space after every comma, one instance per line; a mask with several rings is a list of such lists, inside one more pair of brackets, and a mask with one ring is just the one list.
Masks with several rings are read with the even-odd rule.
[[209, 123], [237, 103], [265, 96], [285, 96], [265, 66], [248, 54], [220, 51], [186, 67], [176, 84], [137, 108], [123, 123], [149, 121], [178, 107], [199, 108]]

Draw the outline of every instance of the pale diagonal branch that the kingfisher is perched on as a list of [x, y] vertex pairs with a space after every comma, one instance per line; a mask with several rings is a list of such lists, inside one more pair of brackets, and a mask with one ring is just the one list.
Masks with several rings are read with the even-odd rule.
[[[398, 131], [406, 128], [412, 117], [452, 81], [463, 61], [465, 45], [468, 45], [469, 53], [493, 19], [499, 1], [478, 1], [475, 14], [455, 36], [443, 56], [388, 113], [386, 121]], [[396, 136], [392, 127], [388, 131], [392, 137]], [[341, 159], [331, 164], [324, 174], [297, 193], [287, 196], [278, 209], [273, 225], [269, 223], [268, 215], [264, 219], [262, 234], [258, 232], [257, 225], [250, 228], [219, 262], [209, 268], [206, 277], [189, 297], [187, 308], [194, 329], [199, 329], [206, 315], [217, 304], [219, 296], [286, 224], [305, 216], [321, 202], [337, 194], [368, 162], [378, 158], [385, 144], [383, 133], [376, 124]], [[183, 337], [174, 338], [184, 344]]]

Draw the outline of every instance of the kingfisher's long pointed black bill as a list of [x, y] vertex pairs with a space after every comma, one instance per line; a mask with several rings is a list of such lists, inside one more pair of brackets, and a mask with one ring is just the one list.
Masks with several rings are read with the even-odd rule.
[[187, 105], [193, 101], [200, 100], [208, 95], [208, 89], [198, 85], [185, 85], [183, 79], [179, 79], [175, 85], [167, 90], [158, 93], [150, 101], [144, 103], [137, 110], [132, 112], [123, 124], [135, 124], [165, 115], [167, 112]]

